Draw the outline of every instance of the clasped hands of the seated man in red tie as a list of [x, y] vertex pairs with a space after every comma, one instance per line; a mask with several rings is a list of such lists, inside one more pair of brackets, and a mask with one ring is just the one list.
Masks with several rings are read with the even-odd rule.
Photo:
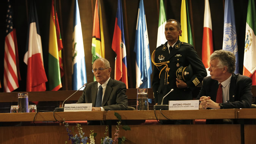
[[212, 101], [210, 97], [202, 96], [200, 97], [199, 101], [201, 102], [199, 105], [199, 109], [220, 109], [219, 104]]

